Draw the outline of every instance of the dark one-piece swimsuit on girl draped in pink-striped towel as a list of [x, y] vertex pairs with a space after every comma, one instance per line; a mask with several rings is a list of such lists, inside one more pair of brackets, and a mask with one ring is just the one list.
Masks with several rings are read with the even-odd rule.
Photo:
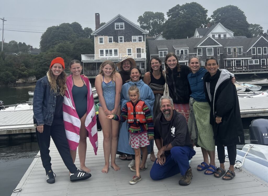
[[79, 118], [83, 117], [84, 114], [87, 112], [87, 93], [87, 86], [85, 85], [85, 83], [82, 87], [77, 87], [73, 82], [73, 101], [75, 102], [75, 109]]

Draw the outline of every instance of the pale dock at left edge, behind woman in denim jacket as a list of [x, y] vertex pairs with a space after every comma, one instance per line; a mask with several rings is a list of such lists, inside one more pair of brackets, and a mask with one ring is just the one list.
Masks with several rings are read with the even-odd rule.
[[35, 132], [33, 110], [1, 111], [0, 135]]

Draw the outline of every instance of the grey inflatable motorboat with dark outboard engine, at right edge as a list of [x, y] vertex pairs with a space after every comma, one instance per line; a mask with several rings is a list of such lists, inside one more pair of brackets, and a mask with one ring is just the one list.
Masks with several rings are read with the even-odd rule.
[[[252, 120], [249, 130], [250, 144], [245, 144], [241, 150], [236, 150], [235, 169], [248, 170], [268, 182], [268, 120]], [[227, 147], [225, 157], [228, 158]]]

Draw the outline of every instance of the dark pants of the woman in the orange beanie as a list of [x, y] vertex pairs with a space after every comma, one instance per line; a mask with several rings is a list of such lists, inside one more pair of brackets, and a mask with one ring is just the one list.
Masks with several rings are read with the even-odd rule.
[[39, 133], [36, 129], [36, 138], [40, 148], [41, 160], [46, 172], [52, 170], [50, 163], [51, 157], [49, 156], [50, 136], [68, 170], [72, 174], [76, 173], [77, 167], [73, 163], [70, 154], [62, 118], [54, 118], [51, 126], [45, 124], [43, 133]]

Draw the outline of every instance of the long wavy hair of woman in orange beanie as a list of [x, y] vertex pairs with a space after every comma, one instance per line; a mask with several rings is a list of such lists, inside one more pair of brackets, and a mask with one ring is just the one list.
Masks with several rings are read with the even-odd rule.
[[65, 71], [62, 70], [61, 75], [59, 75], [57, 80], [55, 80], [52, 70], [49, 69], [47, 71], [47, 78], [49, 80], [49, 85], [51, 87], [51, 91], [53, 90], [54, 92], [57, 92], [57, 81], [58, 81], [58, 84], [59, 84], [59, 87], [60, 87], [59, 94], [61, 96], [64, 96], [65, 91], [67, 89], [66, 77], [67, 77], [67, 75], [66, 75]]

